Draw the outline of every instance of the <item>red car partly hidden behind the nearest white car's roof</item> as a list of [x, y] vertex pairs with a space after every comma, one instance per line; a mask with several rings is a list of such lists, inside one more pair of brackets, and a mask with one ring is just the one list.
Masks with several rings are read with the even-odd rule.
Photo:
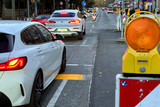
[[38, 15], [36, 18], [33, 18], [33, 20], [31, 20], [32, 22], [39, 22], [42, 23], [44, 25], [46, 25], [46, 21], [50, 18], [51, 15]]

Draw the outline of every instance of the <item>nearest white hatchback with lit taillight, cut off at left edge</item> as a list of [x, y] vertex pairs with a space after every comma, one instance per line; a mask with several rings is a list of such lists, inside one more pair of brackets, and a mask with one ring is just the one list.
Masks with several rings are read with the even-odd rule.
[[0, 105], [40, 105], [42, 91], [65, 71], [62, 39], [38, 22], [0, 21]]

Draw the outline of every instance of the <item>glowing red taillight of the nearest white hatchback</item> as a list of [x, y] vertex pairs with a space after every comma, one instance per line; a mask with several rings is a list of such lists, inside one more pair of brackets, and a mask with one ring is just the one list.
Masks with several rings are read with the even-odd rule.
[[19, 57], [11, 59], [0, 64], [0, 71], [19, 70], [24, 68], [27, 63], [27, 57]]

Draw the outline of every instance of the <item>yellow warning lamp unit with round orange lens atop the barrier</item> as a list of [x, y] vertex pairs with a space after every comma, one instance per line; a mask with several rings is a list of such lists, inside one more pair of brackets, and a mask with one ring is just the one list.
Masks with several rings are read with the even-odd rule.
[[[136, 14], [149, 14], [139, 16]], [[128, 49], [122, 58], [122, 72], [125, 75], [160, 74], [160, 21], [152, 13], [140, 11], [132, 14], [125, 24], [125, 40]]]

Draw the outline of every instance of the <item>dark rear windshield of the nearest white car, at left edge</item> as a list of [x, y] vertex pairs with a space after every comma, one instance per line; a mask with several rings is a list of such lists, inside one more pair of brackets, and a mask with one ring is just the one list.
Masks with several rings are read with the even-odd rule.
[[11, 52], [13, 50], [14, 36], [0, 33], [0, 53]]

